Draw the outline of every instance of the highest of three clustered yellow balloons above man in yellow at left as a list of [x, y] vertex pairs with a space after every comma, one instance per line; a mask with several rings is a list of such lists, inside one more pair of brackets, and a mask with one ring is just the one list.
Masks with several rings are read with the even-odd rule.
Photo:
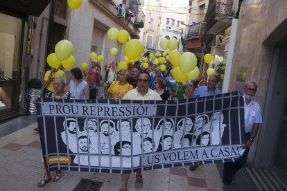
[[55, 55], [58, 60], [67, 60], [73, 54], [73, 44], [69, 40], [61, 40], [55, 46]]

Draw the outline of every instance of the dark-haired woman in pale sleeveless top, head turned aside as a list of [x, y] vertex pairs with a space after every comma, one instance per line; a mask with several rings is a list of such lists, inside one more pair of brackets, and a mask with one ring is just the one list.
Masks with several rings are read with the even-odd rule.
[[71, 81], [68, 91], [73, 99], [89, 100], [89, 84], [82, 80], [82, 71], [78, 67], [71, 69]]

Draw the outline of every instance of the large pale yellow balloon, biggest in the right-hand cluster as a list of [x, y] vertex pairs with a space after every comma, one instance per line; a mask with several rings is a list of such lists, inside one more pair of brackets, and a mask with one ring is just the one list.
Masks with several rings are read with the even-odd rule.
[[191, 52], [186, 52], [183, 53], [180, 56], [180, 70], [184, 73], [189, 73], [190, 71], [192, 71], [195, 67], [196, 64], [198, 64], [198, 59], [196, 58], [196, 56], [191, 53]]

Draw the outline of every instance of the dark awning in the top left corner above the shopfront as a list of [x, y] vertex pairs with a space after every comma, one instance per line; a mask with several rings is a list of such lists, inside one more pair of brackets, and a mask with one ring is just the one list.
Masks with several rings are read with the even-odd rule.
[[51, 0], [1, 0], [0, 6], [39, 17]]

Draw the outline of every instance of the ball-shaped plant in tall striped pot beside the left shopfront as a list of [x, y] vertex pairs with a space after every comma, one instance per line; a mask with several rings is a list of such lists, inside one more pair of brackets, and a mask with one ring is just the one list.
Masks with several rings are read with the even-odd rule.
[[33, 100], [41, 95], [42, 82], [37, 78], [33, 78], [28, 82], [28, 104], [30, 114], [36, 113], [36, 106]]

